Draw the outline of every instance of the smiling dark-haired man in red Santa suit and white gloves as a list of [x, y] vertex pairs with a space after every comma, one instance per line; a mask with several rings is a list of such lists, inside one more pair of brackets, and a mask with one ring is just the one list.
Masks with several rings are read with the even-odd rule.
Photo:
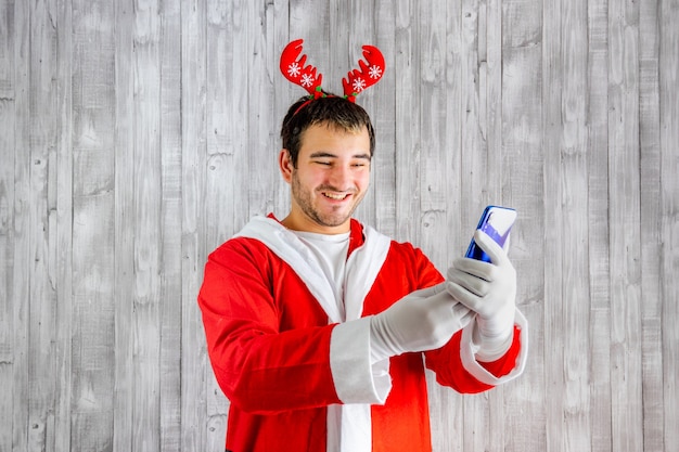
[[445, 282], [421, 250], [351, 218], [375, 146], [359, 105], [304, 98], [281, 135], [290, 212], [217, 248], [198, 296], [231, 401], [227, 450], [430, 451], [425, 365], [460, 392], [523, 370], [514, 269], [477, 232], [492, 263], [459, 259]]

